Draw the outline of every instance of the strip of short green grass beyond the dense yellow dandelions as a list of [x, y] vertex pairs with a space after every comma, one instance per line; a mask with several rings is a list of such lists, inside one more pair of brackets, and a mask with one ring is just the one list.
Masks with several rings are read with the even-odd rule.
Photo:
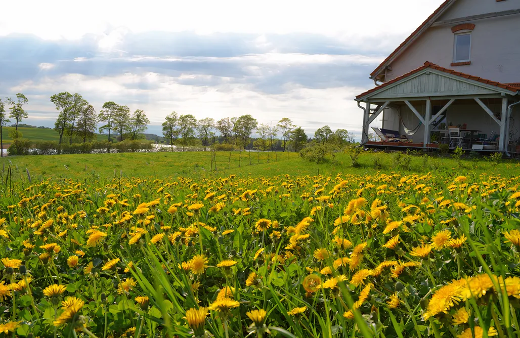
[[[160, 153], [117, 153], [117, 154], [71, 154], [71, 155], [29, 155], [12, 156], [0, 159], [0, 170], [11, 165], [17, 177], [26, 177], [27, 168], [33, 179], [49, 176], [61, 176], [81, 179], [95, 175], [114, 177], [121, 174], [127, 177], [210, 177], [237, 174], [240, 176], [275, 176], [275, 175], [318, 175], [336, 173], [375, 174], [377, 172], [428, 173], [475, 175], [501, 174], [506, 177], [518, 172], [517, 161], [504, 160], [499, 164], [491, 163], [486, 158], [462, 160], [460, 164], [451, 158], [431, 156], [398, 155], [387, 153], [362, 152], [354, 167], [348, 153], [336, 154], [335, 160], [325, 163], [310, 163], [298, 153], [251, 153], [251, 165], [248, 152], [216, 152], [217, 171], [211, 171], [210, 152], [160, 152]], [[269, 163], [268, 163], [269, 155]], [[229, 160], [229, 168], [228, 168]], [[10, 161], [10, 163], [9, 163]], [[409, 164], [407, 164], [409, 161]], [[425, 162], [426, 161], [426, 162]], [[377, 164], [377, 165], [376, 165]]]

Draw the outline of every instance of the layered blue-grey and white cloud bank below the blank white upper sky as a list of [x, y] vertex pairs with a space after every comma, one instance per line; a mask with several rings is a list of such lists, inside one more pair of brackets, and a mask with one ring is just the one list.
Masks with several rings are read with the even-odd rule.
[[46, 125], [57, 116], [48, 98], [68, 91], [97, 109], [108, 100], [144, 109], [156, 126], [175, 110], [215, 119], [250, 113], [267, 123], [288, 117], [309, 135], [325, 124], [357, 130], [353, 98], [373, 85], [380, 48], [301, 33], [8, 35], [0, 37], [0, 95], [26, 94], [34, 123]]

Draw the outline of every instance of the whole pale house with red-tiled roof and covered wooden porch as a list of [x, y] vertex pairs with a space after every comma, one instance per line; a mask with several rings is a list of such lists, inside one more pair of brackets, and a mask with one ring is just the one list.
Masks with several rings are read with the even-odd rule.
[[450, 142], [451, 126], [460, 128], [461, 137], [470, 135], [464, 130], [473, 131], [473, 144], [496, 135], [490, 145], [515, 151], [520, 145], [520, 0], [446, 0], [370, 79], [376, 86], [356, 97], [363, 110], [362, 144], [380, 144], [368, 139], [379, 116], [383, 129], [406, 136], [413, 147]]

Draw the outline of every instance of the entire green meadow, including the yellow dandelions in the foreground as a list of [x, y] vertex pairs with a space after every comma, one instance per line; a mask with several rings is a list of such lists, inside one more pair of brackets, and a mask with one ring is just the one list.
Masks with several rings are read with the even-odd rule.
[[520, 336], [517, 162], [267, 155], [0, 160], [0, 335]]

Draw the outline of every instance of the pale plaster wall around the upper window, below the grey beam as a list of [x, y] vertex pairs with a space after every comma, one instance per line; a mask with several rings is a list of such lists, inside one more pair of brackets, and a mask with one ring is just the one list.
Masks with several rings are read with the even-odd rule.
[[[461, 3], [469, 0], [459, 0]], [[471, 1], [473, 4], [474, 1]], [[490, 4], [509, 3], [520, 8], [520, 0], [506, 0]], [[480, 0], [479, 0], [480, 3]], [[461, 6], [461, 5], [459, 5]], [[461, 7], [472, 12], [472, 5]], [[451, 15], [448, 11], [446, 15]], [[462, 13], [456, 14], [461, 16]], [[425, 61], [441, 67], [483, 77], [501, 83], [520, 82], [520, 14], [468, 21], [475, 23], [471, 41], [471, 64], [451, 66], [453, 62], [454, 34], [451, 27], [456, 24], [431, 27], [404, 53], [395, 59], [387, 71], [385, 81], [395, 79], [413, 69], [421, 67]]]

